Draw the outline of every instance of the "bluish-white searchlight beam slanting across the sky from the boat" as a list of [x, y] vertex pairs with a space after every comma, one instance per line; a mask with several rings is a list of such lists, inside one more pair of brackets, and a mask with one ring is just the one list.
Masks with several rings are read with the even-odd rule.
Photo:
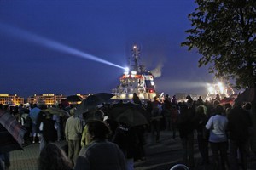
[[55, 51], [59, 51], [59, 52], [62, 52], [62, 53], [67, 53], [67, 54], [72, 54], [74, 56], [78, 56], [78, 57], [83, 58], [83, 59], [94, 60], [94, 61], [106, 64], [106, 65], [112, 65], [112, 66], [115, 66], [115, 67], [118, 67], [120, 69], [125, 70], [125, 67], [122, 67], [120, 65], [115, 65], [115, 64], [113, 64], [113, 63], [111, 63], [111, 62], [109, 62], [105, 59], [98, 58], [98, 57], [93, 56], [91, 54], [86, 54], [86, 53], [80, 51], [79, 49], [69, 47], [69, 46], [67, 46], [65, 44], [62, 44], [60, 42], [55, 42], [55, 41], [50, 40], [48, 38], [40, 37], [40, 36], [38, 36], [36, 34], [33, 34], [31, 32], [20, 30], [18, 28], [12, 27], [12, 26], [7, 26], [7, 25], [4, 25], [4, 24], [0, 23], [0, 31], [8, 33], [9, 36], [19, 37], [20, 39], [26, 40], [28, 42], [35, 42], [39, 45], [43, 45], [46, 48], [54, 49]]

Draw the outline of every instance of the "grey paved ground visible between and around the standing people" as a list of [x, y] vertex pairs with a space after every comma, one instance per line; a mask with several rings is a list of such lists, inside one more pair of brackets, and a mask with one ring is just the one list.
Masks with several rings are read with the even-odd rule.
[[[145, 145], [146, 160], [135, 163], [136, 170], [169, 170], [172, 166], [181, 162], [182, 147], [180, 139], [171, 138], [170, 132], [160, 133], [160, 143], [152, 142], [149, 133], [146, 134], [147, 144]], [[57, 142], [63, 146], [66, 142]], [[39, 144], [30, 144], [24, 150], [11, 152], [11, 167], [9, 170], [37, 170], [37, 160], [39, 156]], [[195, 144], [195, 170], [211, 170], [212, 165], [202, 167], [201, 159]], [[256, 169], [256, 158], [249, 156], [249, 169]]]

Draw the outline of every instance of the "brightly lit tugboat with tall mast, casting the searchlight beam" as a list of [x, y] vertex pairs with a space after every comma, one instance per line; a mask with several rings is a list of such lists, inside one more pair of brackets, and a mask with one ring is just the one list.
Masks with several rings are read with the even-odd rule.
[[145, 65], [139, 65], [140, 49], [137, 45], [132, 47], [132, 60], [134, 65], [131, 65], [129, 59], [129, 69], [119, 78], [120, 84], [112, 90], [115, 95], [112, 99], [132, 99], [134, 93], [142, 100], [152, 100], [155, 93], [154, 76], [150, 71], [147, 71]]

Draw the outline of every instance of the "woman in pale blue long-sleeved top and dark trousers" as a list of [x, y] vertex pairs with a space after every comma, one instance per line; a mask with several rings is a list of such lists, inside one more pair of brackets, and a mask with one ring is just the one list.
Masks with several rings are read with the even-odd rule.
[[226, 169], [226, 165], [229, 167], [227, 156], [228, 138], [226, 134], [228, 119], [222, 115], [223, 112], [223, 106], [217, 105], [215, 116], [210, 117], [206, 125], [206, 128], [210, 130], [209, 142], [212, 149], [214, 169], [220, 170]]

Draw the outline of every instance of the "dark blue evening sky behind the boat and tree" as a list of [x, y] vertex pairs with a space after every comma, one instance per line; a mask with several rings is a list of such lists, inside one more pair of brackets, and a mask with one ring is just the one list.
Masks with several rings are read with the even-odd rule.
[[1, 1], [0, 93], [111, 93], [123, 70], [66, 47], [125, 66], [134, 43], [148, 70], [162, 65], [157, 92], [206, 93], [212, 75], [198, 68], [196, 52], [180, 46], [195, 8], [193, 0]]

